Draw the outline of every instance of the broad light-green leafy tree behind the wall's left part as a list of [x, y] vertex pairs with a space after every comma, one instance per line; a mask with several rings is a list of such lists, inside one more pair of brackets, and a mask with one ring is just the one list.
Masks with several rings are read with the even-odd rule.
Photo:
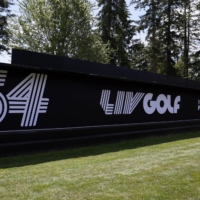
[[36, 52], [108, 63], [110, 49], [92, 27], [85, 0], [22, 0], [11, 23], [11, 46]]

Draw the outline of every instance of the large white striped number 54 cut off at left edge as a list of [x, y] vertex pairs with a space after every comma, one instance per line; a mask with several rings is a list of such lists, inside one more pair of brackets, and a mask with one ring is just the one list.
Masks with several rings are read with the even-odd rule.
[[[7, 71], [0, 70], [0, 86], [4, 86]], [[0, 122], [7, 113], [22, 114], [21, 126], [36, 126], [40, 113], [46, 113], [49, 99], [43, 98], [46, 74], [31, 73], [6, 96], [0, 93]]]

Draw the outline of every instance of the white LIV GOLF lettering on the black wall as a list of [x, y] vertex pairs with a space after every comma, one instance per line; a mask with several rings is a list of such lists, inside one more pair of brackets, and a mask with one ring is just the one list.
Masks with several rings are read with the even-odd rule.
[[[156, 100], [153, 99], [152, 93], [139, 93], [118, 91], [115, 104], [109, 103], [110, 90], [102, 90], [100, 105], [106, 115], [130, 115], [143, 99], [143, 108], [147, 114], [153, 114], [157, 111], [159, 114], [165, 114], [167, 111], [176, 114], [180, 109], [181, 97], [177, 96], [172, 102], [171, 95], [160, 94]], [[171, 106], [173, 105], [173, 106]]]

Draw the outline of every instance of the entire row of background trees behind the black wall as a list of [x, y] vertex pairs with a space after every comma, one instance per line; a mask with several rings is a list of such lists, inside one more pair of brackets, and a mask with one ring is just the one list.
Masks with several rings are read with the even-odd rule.
[[200, 0], [131, 0], [138, 20], [126, 0], [19, 0], [17, 15], [15, 3], [0, 0], [0, 54], [15, 47], [200, 80]]

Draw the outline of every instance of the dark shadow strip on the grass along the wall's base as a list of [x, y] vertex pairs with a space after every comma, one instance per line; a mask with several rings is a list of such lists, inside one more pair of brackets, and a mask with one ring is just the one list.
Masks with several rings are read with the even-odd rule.
[[0, 158], [0, 168], [22, 167], [27, 165], [41, 164], [45, 162], [58, 161], [69, 158], [95, 156], [104, 153], [118, 152], [128, 149], [136, 149], [145, 146], [168, 143], [178, 140], [200, 137], [200, 132], [189, 132], [181, 134], [170, 134], [161, 136], [145, 137], [121, 141], [110, 144], [99, 144], [96, 146], [79, 147], [65, 150], [54, 150], [49, 152], [35, 152], [20, 156]]

